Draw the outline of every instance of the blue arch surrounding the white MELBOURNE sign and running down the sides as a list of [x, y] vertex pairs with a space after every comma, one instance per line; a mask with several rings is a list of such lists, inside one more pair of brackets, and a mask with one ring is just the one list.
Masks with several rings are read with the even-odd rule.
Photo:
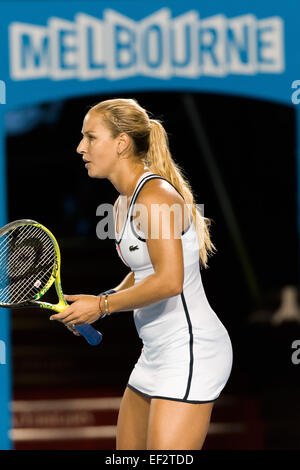
[[[54, 7], [54, 8], [53, 8]], [[257, 19], [274, 16], [282, 18], [284, 23], [284, 55], [285, 70], [282, 74], [257, 74], [254, 76], [229, 75], [223, 78], [198, 77], [185, 79], [172, 77], [168, 80], [155, 79], [145, 76], [134, 76], [126, 79], [108, 80], [106, 78], [81, 81], [78, 79], [54, 81], [50, 79], [35, 79], [14, 81], [9, 69], [9, 34], [8, 27], [12, 22], [20, 21], [33, 25], [45, 26], [51, 16], [74, 21], [78, 12], [86, 13], [98, 19], [103, 19], [106, 8], [127, 16], [134, 21], [140, 21], [157, 12], [161, 8], [171, 10], [171, 18], [176, 18], [191, 10], [199, 12], [200, 21], [217, 14], [223, 14], [232, 19], [238, 16], [253, 14]], [[0, 4], [0, 43], [1, 64], [0, 80], [4, 80], [7, 88], [7, 104], [0, 105], [1, 136], [0, 136], [0, 224], [7, 222], [6, 204], [6, 168], [5, 168], [5, 125], [4, 111], [32, 106], [40, 102], [66, 99], [74, 96], [95, 95], [97, 93], [113, 94], [122, 92], [142, 91], [189, 91], [208, 92], [243, 96], [255, 99], [275, 101], [291, 105], [291, 84], [300, 79], [300, 44], [298, 0], [223, 0], [198, 2], [196, 0], [140, 2], [124, 0], [108, 2], [99, 1], [2, 1]], [[299, 104], [300, 106], [300, 104]], [[300, 238], [300, 108], [297, 110], [297, 177], [298, 177], [298, 232]], [[300, 264], [300, 262], [299, 262]], [[300, 266], [299, 266], [300, 270]], [[10, 358], [10, 319], [9, 313], [1, 312], [0, 340], [5, 341], [7, 358]], [[11, 442], [8, 429], [11, 426], [9, 403], [11, 402], [11, 365], [0, 364], [0, 449], [10, 449]]]

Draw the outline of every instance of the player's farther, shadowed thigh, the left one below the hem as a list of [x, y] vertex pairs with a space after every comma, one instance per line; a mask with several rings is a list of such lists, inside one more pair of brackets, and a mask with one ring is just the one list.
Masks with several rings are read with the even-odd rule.
[[151, 399], [126, 387], [118, 415], [117, 450], [146, 449]]

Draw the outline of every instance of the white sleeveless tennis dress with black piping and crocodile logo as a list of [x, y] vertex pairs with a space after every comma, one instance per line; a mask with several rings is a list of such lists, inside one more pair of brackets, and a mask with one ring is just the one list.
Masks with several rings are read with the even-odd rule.
[[[115, 216], [116, 249], [133, 271], [135, 284], [155, 272], [145, 235], [132, 216], [139, 191], [152, 178], [164, 179], [150, 171], [141, 175], [120, 234], [116, 230], [118, 208]], [[181, 294], [134, 310], [143, 348], [127, 386], [152, 398], [205, 403], [216, 400], [226, 385], [232, 368], [232, 345], [204, 292], [193, 222], [182, 233], [181, 240], [184, 256]]]

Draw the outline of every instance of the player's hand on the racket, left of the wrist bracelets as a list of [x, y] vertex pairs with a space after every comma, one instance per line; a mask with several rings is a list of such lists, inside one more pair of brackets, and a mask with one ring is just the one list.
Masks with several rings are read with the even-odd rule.
[[51, 315], [50, 320], [57, 320], [65, 325], [84, 325], [94, 323], [101, 317], [99, 297], [96, 295], [64, 295], [69, 307], [61, 313]]

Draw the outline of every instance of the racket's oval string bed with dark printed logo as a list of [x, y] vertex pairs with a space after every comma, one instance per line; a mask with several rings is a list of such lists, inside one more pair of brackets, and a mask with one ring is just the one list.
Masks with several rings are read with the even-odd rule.
[[0, 239], [0, 302], [32, 300], [46, 286], [55, 263], [53, 241], [42, 228], [11, 229]]

